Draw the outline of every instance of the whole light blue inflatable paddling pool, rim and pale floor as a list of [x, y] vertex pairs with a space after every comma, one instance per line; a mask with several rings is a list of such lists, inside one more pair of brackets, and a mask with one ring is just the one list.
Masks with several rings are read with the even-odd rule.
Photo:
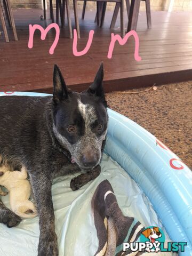
[[[50, 94], [1, 92], [1, 95], [43, 97]], [[100, 176], [77, 191], [71, 191], [69, 187], [71, 177], [60, 177], [53, 182], [59, 255], [93, 256], [97, 251], [97, 235], [90, 214], [91, 193], [99, 181], [108, 179], [124, 215], [133, 215], [145, 226], [163, 228], [172, 241], [187, 242], [185, 252], [179, 255], [192, 256], [190, 169], [162, 142], [129, 118], [111, 109], [108, 109], [108, 115]], [[8, 196], [2, 199], [9, 206]], [[74, 219], [78, 219], [78, 223]], [[24, 252], [25, 255], [36, 255], [38, 217], [24, 219], [12, 229], [0, 225], [0, 233], [0, 255], [24, 255]]]

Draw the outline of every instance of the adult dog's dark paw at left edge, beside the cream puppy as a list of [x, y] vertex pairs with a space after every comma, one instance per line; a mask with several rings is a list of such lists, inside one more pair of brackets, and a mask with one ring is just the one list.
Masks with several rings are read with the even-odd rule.
[[8, 228], [17, 226], [21, 218], [9, 210], [0, 199], [0, 223], [5, 224]]

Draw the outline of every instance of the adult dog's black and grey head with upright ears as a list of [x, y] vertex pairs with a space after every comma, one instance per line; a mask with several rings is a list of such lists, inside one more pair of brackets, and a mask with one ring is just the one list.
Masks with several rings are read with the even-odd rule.
[[107, 134], [107, 102], [102, 86], [103, 65], [92, 85], [84, 92], [73, 92], [65, 84], [60, 69], [53, 74], [53, 132], [69, 150], [71, 162], [81, 169], [93, 169], [101, 159]]

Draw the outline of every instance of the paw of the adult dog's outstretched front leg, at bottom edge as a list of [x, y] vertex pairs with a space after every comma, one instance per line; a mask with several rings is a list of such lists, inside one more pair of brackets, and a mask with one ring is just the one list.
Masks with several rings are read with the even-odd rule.
[[39, 238], [38, 256], [58, 256], [58, 242], [55, 233], [48, 233], [44, 238]]

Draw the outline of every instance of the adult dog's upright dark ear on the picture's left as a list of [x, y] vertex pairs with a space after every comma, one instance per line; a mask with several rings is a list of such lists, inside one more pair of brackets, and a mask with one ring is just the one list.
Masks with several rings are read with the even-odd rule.
[[54, 65], [53, 71], [53, 101], [55, 103], [68, 98], [69, 89], [61, 74], [61, 70], [57, 65]]

